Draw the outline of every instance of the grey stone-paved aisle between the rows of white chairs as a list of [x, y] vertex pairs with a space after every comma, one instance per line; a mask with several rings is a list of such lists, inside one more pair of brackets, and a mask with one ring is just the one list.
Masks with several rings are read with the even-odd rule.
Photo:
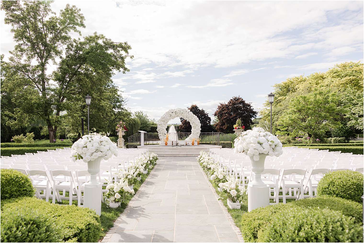
[[239, 242], [214, 191], [194, 157], [161, 157], [103, 242]]

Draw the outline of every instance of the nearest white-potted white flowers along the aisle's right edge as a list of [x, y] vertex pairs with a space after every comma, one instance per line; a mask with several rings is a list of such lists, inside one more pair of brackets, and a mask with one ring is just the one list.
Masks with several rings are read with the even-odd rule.
[[242, 192], [238, 188], [239, 180], [230, 177], [227, 182], [221, 183], [222, 192], [227, 196], [227, 206], [230, 209], [240, 209]]

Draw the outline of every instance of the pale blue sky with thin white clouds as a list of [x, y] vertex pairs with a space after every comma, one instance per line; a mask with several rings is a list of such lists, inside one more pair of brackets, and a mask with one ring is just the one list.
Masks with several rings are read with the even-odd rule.
[[[51, 6], [58, 14], [67, 3], [86, 18], [82, 36], [98, 32], [131, 45], [130, 72], [115, 73], [113, 81], [128, 109], [150, 119], [191, 104], [213, 118], [218, 104], [233, 96], [260, 111], [272, 85], [288, 77], [363, 61], [363, 1], [55, 1]], [[15, 43], [3, 17], [1, 12], [0, 48], [7, 60]]]

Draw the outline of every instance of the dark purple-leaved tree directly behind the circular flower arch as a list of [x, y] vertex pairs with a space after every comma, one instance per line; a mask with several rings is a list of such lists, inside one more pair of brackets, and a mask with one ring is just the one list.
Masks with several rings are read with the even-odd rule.
[[[195, 116], [197, 116], [198, 120], [201, 123], [201, 132], [212, 132], [211, 127], [211, 117], [204, 109], [198, 108], [197, 105], [191, 105], [187, 107]], [[192, 127], [189, 121], [181, 118], [181, 125], [178, 127], [180, 132], [191, 132]]]

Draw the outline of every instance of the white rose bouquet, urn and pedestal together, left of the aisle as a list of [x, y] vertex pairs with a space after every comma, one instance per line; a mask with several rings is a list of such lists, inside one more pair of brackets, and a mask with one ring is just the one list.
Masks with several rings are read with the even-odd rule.
[[104, 134], [84, 135], [72, 145], [71, 158], [82, 159], [87, 163], [87, 171], [91, 175], [90, 181], [84, 186], [83, 206], [95, 210], [98, 215], [101, 215], [102, 186], [97, 181], [96, 175], [100, 171], [101, 160], [107, 160], [112, 155], [118, 155], [116, 144]]

